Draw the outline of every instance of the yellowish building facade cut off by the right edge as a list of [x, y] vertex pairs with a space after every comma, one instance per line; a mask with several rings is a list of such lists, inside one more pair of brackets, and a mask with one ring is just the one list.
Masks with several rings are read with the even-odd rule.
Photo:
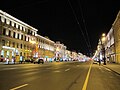
[[116, 63], [120, 63], [120, 11], [113, 23], [114, 38], [115, 38], [115, 58]]

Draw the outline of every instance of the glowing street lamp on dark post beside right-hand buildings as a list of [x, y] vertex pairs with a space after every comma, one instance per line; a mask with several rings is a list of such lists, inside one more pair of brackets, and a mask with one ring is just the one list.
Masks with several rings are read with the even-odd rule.
[[102, 53], [103, 53], [103, 61], [104, 61], [104, 65], [106, 65], [106, 57], [105, 57], [105, 40], [106, 40], [106, 35], [105, 33], [102, 34], [102, 37], [100, 39], [101, 41], [101, 46], [102, 46]]

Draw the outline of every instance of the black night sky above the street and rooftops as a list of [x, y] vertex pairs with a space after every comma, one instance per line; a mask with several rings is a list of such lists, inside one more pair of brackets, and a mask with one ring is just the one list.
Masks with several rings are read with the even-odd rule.
[[68, 50], [90, 55], [110, 30], [120, 0], [0, 0], [0, 9]]

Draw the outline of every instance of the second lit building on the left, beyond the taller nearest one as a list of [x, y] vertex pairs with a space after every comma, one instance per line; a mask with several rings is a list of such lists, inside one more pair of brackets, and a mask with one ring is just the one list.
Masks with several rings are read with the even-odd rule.
[[48, 37], [37, 35], [37, 54], [38, 57], [44, 58], [45, 61], [53, 61], [54, 58], [54, 44]]

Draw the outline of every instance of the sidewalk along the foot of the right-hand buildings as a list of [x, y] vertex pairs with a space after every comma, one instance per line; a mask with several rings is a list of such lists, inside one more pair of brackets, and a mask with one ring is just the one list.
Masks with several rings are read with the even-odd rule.
[[120, 75], [120, 64], [107, 63], [106, 65], [103, 66]]

